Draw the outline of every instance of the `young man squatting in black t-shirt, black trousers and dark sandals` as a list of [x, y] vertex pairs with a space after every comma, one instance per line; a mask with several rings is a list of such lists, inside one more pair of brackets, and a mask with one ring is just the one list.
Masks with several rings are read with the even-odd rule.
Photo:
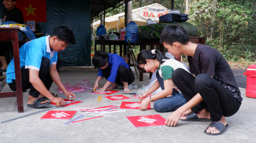
[[224, 116], [234, 115], [242, 97], [228, 62], [214, 48], [190, 42], [180, 25], [163, 29], [160, 42], [175, 57], [187, 55], [190, 72], [176, 69], [172, 79], [187, 103], [168, 116], [165, 124], [175, 126], [182, 121], [212, 121], [204, 131], [220, 135], [228, 129]]

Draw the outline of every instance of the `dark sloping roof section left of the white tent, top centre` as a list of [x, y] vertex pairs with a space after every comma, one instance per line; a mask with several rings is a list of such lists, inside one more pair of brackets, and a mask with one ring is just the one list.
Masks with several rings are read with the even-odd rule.
[[99, 17], [101, 12], [109, 12], [132, 0], [90, 0], [92, 19]]

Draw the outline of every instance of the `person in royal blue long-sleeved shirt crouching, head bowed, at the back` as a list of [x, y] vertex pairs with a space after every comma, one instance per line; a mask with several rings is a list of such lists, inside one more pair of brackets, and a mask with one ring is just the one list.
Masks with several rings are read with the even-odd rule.
[[[92, 61], [93, 65], [99, 68], [99, 73], [93, 88], [97, 89], [99, 87], [99, 82], [103, 77], [107, 79], [105, 85], [95, 92], [104, 92], [106, 89], [112, 90], [117, 88], [117, 84], [123, 84], [124, 92], [130, 92], [129, 85], [135, 80], [135, 77], [123, 57], [117, 54], [96, 51]], [[110, 84], [111, 87], [108, 88]]]

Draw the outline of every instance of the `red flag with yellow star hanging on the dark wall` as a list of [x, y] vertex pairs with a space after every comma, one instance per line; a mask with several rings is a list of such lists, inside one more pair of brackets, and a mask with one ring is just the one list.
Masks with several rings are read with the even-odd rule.
[[15, 6], [21, 10], [24, 21], [46, 22], [46, 0], [17, 0]]

